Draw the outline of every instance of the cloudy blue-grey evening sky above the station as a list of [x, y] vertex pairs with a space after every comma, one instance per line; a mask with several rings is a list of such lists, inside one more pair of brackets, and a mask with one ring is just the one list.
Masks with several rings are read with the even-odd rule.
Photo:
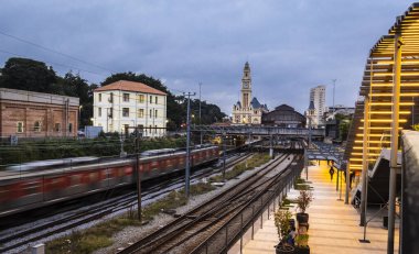
[[115, 73], [158, 78], [227, 113], [249, 62], [253, 93], [303, 112], [310, 88], [354, 106], [366, 57], [406, 0], [2, 0], [0, 66], [10, 57], [99, 84]]

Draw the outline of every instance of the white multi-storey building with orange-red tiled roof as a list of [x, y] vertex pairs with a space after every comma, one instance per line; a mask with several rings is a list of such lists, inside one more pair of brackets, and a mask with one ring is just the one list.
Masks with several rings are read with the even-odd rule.
[[95, 126], [104, 132], [132, 132], [162, 136], [166, 124], [166, 93], [142, 82], [120, 80], [94, 91]]

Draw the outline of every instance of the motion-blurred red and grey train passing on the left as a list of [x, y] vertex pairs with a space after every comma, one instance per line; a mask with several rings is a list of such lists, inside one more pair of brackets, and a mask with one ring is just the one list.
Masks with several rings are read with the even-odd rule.
[[[191, 153], [191, 165], [218, 159], [218, 147], [198, 147]], [[130, 185], [136, 181], [135, 158], [120, 158], [54, 169], [31, 170], [2, 177], [0, 180], [0, 217], [54, 202]], [[140, 158], [141, 179], [160, 177], [185, 167], [184, 151], [143, 154]]]

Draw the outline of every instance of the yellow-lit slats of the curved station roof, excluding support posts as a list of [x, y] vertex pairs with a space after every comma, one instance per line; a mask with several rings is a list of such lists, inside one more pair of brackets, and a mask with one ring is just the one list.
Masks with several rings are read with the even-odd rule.
[[[410, 129], [412, 111], [418, 111], [419, 97], [419, 3], [411, 4], [396, 19], [395, 24], [369, 51], [359, 96], [369, 98], [368, 161], [373, 164], [384, 147], [390, 145], [393, 113], [393, 77], [395, 48], [401, 45], [400, 68], [400, 129]], [[350, 129], [345, 158], [350, 168], [361, 170], [363, 165], [364, 101], [356, 102]]]

